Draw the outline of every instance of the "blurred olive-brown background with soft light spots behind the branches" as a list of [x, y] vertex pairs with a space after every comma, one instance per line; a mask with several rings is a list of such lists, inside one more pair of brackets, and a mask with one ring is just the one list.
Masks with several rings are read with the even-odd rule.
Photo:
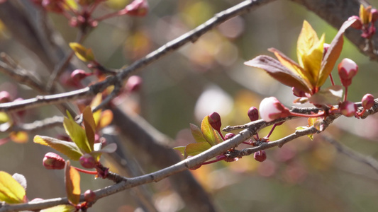
[[[147, 16], [105, 20], [86, 37], [83, 45], [93, 49], [101, 64], [118, 69], [239, 2], [149, 1]], [[378, 1], [369, 2], [378, 5]], [[127, 0], [108, 0], [96, 13], [99, 16], [110, 13], [129, 3]], [[77, 30], [70, 27], [66, 18], [54, 13], [49, 13], [49, 18], [67, 43], [75, 40]], [[224, 127], [249, 122], [248, 109], [258, 107], [262, 98], [268, 96], [275, 96], [290, 107], [295, 99], [291, 88], [282, 86], [260, 69], [243, 65], [243, 62], [260, 54], [273, 56], [267, 51], [269, 47], [279, 49], [296, 61], [296, 40], [304, 20], [308, 20], [319, 37], [325, 33], [328, 43], [337, 32], [298, 4], [274, 1], [226, 21], [197, 42], [187, 44], [146, 67], [138, 73], [143, 78], [141, 90], [118, 99], [117, 104], [132, 108], [157, 130], [172, 138], [169, 143], [172, 148], [194, 142], [189, 123], [199, 126], [201, 119], [211, 112], [221, 114]], [[3, 28], [1, 52], [9, 54], [26, 69], [48, 77], [48, 70], [43, 70], [45, 68], [36, 61], [33, 52], [13, 40], [4, 25], [0, 28]], [[365, 93], [378, 96], [377, 62], [369, 61], [348, 40], [345, 40], [339, 61], [345, 57], [354, 60], [360, 68], [348, 90], [348, 100], [359, 102]], [[336, 70], [333, 77], [340, 84]], [[327, 85], [330, 82], [324, 87]], [[0, 90], [9, 91], [15, 98], [36, 95], [33, 90], [16, 85], [6, 76], [0, 78]], [[25, 122], [55, 114], [60, 113], [52, 106], [28, 110]], [[377, 115], [363, 120], [340, 117], [326, 133], [343, 145], [378, 160], [377, 124]], [[282, 138], [293, 133], [297, 126], [306, 125], [306, 119], [284, 123], [269, 139]], [[0, 170], [25, 175], [29, 199], [65, 196], [62, 170], [45, 170], [42, 166], [43, 155], [51, 151], [50, 148], [32, 141], [35, 134], [56, 136], [62, 132], [62, 127], [57, 126], [30, 133], [28, 143], [8, 142], [0, 146]], [[264, 129], [259, 136], [268, 132], [269, 128]], [[157, 170], [145, 160], [145, 155], [138, 154], [138, 149], [129, 149], [128, 154], [138, 161], [143, 173]], [[112, 171], [116, 172], [116, 167]], [[378, 208], [377, 170], [338, 153], [321, 135], [315, 135], [313, 141], [303, 137], [282, 148], [269, 149], [263, 163], [250, 155], [233, 163], [204, 165], [191, 173], [209, 193], [218, 211], [375, 211]], [[81, 176], [83, 192], [111, 184], [92, 176]], [[167, 179], [148, 184], [146, 189], [158, 211], [188, 211]], [[89, 211], [141, 209], [133, 197], [133, 189], [130, 189], [100, 199]]]

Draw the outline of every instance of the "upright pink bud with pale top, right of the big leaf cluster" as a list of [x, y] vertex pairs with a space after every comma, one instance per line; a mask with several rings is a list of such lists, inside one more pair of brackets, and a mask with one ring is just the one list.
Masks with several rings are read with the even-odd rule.
[[352, 78], [357, 74], [358, 66], [355, 61], [344, 58], [340, 64], [338, 64], [338, 75], [340, 76], [343, 86], [348, 87], [352, 83]]

